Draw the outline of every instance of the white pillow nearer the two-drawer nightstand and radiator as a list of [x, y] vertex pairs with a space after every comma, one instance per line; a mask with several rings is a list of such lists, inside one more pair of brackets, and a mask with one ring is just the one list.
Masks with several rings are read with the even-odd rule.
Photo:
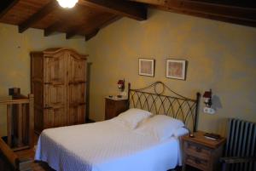
[[173, 136], [178, 128], [183, 128], [184, 123], [166, 115], [155, 115], [139, 125], [138, 133], [154, 134], [154, 136], [162, 141]]

